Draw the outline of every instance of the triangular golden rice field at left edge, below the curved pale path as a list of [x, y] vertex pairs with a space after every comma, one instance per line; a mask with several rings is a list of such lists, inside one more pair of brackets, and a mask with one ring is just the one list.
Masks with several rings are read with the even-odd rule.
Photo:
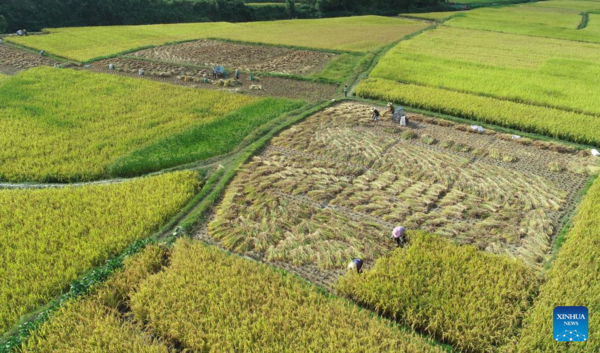
[[200, 186], [195, 172], [117, 184], [0, 190], [0, 331], [92, 266], [150, 236]]

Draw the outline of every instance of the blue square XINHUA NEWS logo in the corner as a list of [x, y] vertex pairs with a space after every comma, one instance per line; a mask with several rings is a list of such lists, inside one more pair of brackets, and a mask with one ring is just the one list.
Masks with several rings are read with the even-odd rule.
[[555, 341], [584, 342], [588, 338], [588, 310], [585, 306], [554, 308]]

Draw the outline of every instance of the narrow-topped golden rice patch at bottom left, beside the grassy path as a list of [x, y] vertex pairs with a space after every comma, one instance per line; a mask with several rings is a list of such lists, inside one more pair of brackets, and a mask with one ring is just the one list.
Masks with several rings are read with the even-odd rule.
[[23, 352], [156, 352], [171, 350], [142, 332], [142, 325], [121, 314], [131, 295], [148, 276], [165, 265], [168, 250], [149, 245], [125, 260], [124, 269], [88, 297], [70, 301], [36, 330]]

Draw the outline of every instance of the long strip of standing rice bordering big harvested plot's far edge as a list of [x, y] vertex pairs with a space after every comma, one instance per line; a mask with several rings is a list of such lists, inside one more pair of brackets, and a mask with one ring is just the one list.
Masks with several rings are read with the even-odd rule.
[[454, 116], [600, 146], [600, 117], [537, 107], [435, 87], [384, 79], [362, 81], [361, 97], [393, 101]]

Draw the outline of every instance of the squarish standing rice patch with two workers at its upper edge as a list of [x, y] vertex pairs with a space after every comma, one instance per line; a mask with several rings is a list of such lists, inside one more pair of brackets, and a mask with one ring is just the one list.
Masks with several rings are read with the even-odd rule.
[[517, 332], [534, 294], [535, 272], [437, 236], [412, 233], [409, 240], [372, 270], [349, 272], [338, 289], [465, 352], [494, 351]]

